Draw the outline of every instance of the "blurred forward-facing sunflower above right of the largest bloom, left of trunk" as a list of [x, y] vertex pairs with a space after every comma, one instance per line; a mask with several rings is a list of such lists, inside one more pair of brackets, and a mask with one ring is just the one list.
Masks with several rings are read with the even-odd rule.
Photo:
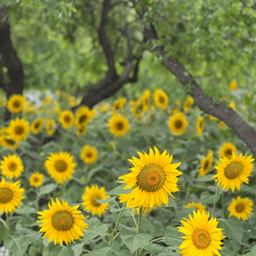
[[169, 118], [169, 128], [172, 134], [180, 136], [185, 133], [188, 121], [183, 113], [174, 113]]

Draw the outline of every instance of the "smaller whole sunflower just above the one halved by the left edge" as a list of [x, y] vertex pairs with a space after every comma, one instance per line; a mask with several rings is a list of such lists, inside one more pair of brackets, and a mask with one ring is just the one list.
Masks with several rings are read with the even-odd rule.
[[0, 168], [2, 170], [2, 174], [9, 178], [20, 177], [21, 172], [24, 172], [24, 166], [17, 154], [3, 156]]

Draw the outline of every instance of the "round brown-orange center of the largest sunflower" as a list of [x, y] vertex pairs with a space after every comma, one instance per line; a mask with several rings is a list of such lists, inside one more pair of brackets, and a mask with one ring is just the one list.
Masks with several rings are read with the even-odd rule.
[[157, 191], [166, 180], [166, 173], [161, 166], [149, 164], [144, 166], [137, 176], [137, 184], [140, 189], [147, 192]]

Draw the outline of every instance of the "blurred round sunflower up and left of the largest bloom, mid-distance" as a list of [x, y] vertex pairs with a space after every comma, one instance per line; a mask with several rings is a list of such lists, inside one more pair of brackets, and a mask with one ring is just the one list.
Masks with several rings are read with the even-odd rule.
[[108, 122], [109, 131], [115, 136], [124, 136], [129, 131], [129, 121], [123, 115], [114, 114]]

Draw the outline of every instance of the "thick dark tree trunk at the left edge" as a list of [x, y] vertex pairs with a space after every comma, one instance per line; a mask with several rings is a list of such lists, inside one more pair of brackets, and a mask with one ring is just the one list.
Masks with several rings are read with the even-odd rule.
[[[10, 26], [7, 8], [0, 8], [0, 68], [8, 69], [9, 84], [3, 84], [3, 74], [0, 74], [0, 86], [5, 90], [7, 98], [13, 94], [22, 94], [24, 89], [24, 73], [22, 63], [10, 38]], [[8, 110], [4, 113], [4, 120], [10, 119]]]

